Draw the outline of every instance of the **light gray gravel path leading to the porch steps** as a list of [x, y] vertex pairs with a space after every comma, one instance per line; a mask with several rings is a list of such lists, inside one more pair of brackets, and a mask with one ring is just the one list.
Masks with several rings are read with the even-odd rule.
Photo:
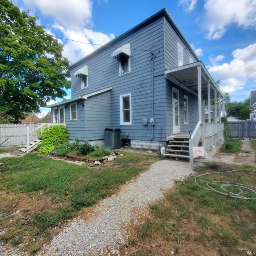
[[[174, 180], [184, 179], [192, 172], [186, 162], [161, 160], [152, 164], [150, 170], [122, 186], [117, 194], [102, 200], [93, 212], [88, 213], [88, 220], [72, 220], [37, 255], [120, 255], [120, 244], [125, 244], [128, 238], [128, 223], [136, 223], [138, 212], [146, 215], [148, 203], [161, 198], [162, 190], [171, 188]], [[0, 255], [26, 255], [5, 248], [0, 244]]]

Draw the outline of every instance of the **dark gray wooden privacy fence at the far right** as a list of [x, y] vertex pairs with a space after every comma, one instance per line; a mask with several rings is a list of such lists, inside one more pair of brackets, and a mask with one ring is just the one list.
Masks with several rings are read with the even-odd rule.
[[256, 139], [256, 121], [228, 122], [231, 138]]

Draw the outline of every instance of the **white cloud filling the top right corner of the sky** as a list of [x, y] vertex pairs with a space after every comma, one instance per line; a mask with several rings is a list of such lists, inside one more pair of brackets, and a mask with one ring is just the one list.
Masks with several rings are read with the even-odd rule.
[[204, 8], [208, 39], [221, 38], [231, 23], [244, 29], [256, 28], [256, 0], [205, 0]]

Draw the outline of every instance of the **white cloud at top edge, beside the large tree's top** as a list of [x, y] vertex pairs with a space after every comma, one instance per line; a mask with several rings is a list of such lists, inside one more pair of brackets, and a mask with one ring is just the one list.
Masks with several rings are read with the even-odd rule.
[[80, 30], [91, 23], [92, 2], [90, 0], [23, 0], [24, 4], [50, 16], [55, 23], [67, 29]]

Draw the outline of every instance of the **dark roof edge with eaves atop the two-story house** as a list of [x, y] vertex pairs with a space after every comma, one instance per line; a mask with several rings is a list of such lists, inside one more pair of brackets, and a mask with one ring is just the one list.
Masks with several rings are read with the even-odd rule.
[[[152, 15], [151, 17], [147, 18], [146, 20], [144, 20], [143, 22], [141, 22], [140, 24], [136, 25], [135, 27], [131, 28], [130, 30], [124, 32], [123, 34], [121, 34], [120, 36], [114, 38], [113, 40], [111, 40], [110, 42], [104, 44], [103, 46], [101, 46], [100, 48], [98, 48], [97, 50], [95, 50], [94, 52], [86, 55], [84, 58], [78, 60], [77, 62], [75, 62], [74, 64], [72, 64], [70, 66], [70, 68], [73, 68], [74, 66], [80, 64], [81, 62], [84, 62], [86, 59], [96, 55], [98, 52], [100, 52], [103, 49], [107, 49], [108, 47], [114, 47], [116, 50], [118, 50], [118, 48], [122, 47], [122, 45], [115, 47], [112, 46], [113, 44], [118, 43], [118, 41], [122, 40], [123, 38], [125, 38], [126, 36], [129, 36], [130, 34], [136, 32], [137, 30], [147, 26], [148, 24], [154, 22], [155, 20], [161, 18], [161, 17], [165, 17], [166, 20], [170, 23], [170, 25], [172, 26], [172, 28], [174, 29], [174, 31], [176, 32], [176, 34], [180, 37], [180, 39], [184, 42], [184, 44], [186, 45], [187, 48], [189, 48], [189, 50], [191, 51], [191, 53], [193, 54], [193, 57], [196, 59], [196, 61], [200, 61], [200, 59], [198, 58], [196, 52], [194, 51], [194, 49], [192, 48], [192, 46], [190, 45], [190, 43], [188, 42], [188, 40], [186, 39], [186, 37], [184, 36], [184, 34], [182, 33], [182, 31], [180, 30], [180, 28], [178, 27], [178, 25], [176, 24], [176, 22], [174, 21], [174, 19], [172, 18], [172, 16], [170, 15], [170, 13], [168, 12], [168, 10], [166, 8], [160, 10], [159, 12], [157, 12], [156, 14]], [[146, 50], [146, 49], [145, 49]], [[149, 49], [148, 49], [149, 50]]]

